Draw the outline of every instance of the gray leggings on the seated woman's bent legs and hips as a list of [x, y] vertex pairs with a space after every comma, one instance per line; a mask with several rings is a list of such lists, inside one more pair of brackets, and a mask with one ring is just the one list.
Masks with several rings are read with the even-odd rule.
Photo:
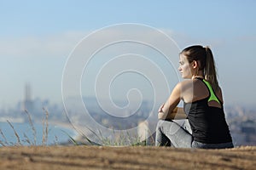
[[156, 146], [173, 146], [177, 148], [222, 149], [233, 148], [232, 142], [223, 144], [202, 144], [193, 139], [189, 120], [179, 122], [160, 120], [156, 127]]

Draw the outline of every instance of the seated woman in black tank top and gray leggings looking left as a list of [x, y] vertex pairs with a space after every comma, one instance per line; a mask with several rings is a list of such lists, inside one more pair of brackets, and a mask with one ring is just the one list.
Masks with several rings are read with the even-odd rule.
[[[178, 71], [188, 80], [178, 82], [169, 99], [160, 106], [155, 144], [182, 148], [233, 148], [211, 49], [200, 45], [185, 48], [180, 53], [179, 64]], [[177, 108], [181, 99], [183, 109]], [[187, 118], [183, 126], [173, 121], [182, 115]]]

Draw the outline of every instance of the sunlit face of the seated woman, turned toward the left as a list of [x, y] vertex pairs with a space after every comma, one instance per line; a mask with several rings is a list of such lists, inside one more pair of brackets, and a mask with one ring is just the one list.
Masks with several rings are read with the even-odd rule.
[[191, 67], [192, 65], [189, 63], [187, 57], [183, 54], [179, 55], [179, 67], [178, 71], [180, 71], [181, 76], [183, 78], [191, 78]]

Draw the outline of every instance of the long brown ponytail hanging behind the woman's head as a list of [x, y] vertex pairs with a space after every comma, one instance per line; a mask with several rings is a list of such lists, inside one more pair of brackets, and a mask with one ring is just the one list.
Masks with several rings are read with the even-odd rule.
[[213, 90], [217, 92], [219, 87], [218, 87], [217, 71], [215, 68], [215, 62], [213, 59], [212, 50], [208, 46], [205, 48], [205, 50], [207, 54], [206, 66], [204, 69], [205, 79], [207, 80], [207, 82], [211, 83]]

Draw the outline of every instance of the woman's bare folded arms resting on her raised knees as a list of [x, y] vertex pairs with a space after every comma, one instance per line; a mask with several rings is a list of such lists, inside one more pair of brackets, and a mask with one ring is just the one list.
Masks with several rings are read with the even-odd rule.
[[164, 105], [160, 106], [158, 111], [159, 119], [181, 119], [186, 118], [182, 108], [177, 108], [177, 104], [182, 99], [181, 96], [181, 82], [177, 83], [176, 87], [173, 88], [172, 94], [167, 99]]

